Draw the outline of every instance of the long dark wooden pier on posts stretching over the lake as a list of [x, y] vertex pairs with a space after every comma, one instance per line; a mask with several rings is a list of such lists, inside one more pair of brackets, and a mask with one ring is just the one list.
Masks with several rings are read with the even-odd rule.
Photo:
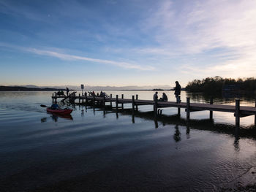
[[[165, 107], [176, 107], [178, 109], [178, 115], [181, 114], [181, 108], [184, 108], [187, 113], [187, 120], [190, 118], [190, 112], [195, 111], [203, 111], [208, 110], [210, 112], [209, 118], [212, 120], [213, 112], [233, 112], [234, 117], [236, 118], [236, 129], [240, 127], [240, 118], [255, 115], [255, 126], [256, 126], [256, 102], [255, 107], [247, 107], [247, 106], [240, 106], [240, 100], [236, 99], [236, 105], [227, 105], [227, 104], [214, 104], [213, 99], [209, 101], [208, 104], [200, 104], [200, 103], [190, 103], [190, 98], [187, 97], [187, 102], [181, 102], [180, 104], [176, 104], [174, 101], [152, 101], [152, 100], [143, 100], [138, 99], [138, 95], [132, 96], [132, 99], [124, 99], [124, 94], [121, 95], [121, 98], [112, 97], [99, 97], [99, 96], [87, 96], [85, 93], [83, 96], [75, 96], [75, 94], [69, 96], [72, 101], [78, 99], [78, 104], [89, 104], [89, 101], [94, 105], [96, 102], [101, 103], [102, 106], [105, 107], [105, 104], [108, 102], [110, 103], [110, 107], [112, 107], [112, 103], [116, 103], [115, 107], [118, 110], [118, 104], [121, 104], [121, 108], [124, 109], [124, 104], [132, 104], [132, 112], [135, 110], [138, 111], [139, 105], [152, 105], [154, 110], [154, 115], [159, 115], [161, 113], [161, 108]], [[67, 96], [57, 96], [56, 94], [52, 96], [53, 101], [57, 101], [57, 99], [64, 99]]]

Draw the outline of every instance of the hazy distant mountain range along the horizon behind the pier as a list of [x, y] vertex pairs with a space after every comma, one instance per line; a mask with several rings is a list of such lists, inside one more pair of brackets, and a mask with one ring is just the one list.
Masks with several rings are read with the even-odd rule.
[[[3, 87], [3, 86], [0, 86]], [[69, 90], [80, 91], [80, 86], [73, 86], [73, 85], [61, 85], [61, 86], [37, 86], [37, 85], [11, 85], [11, 86], [4, 86], [10, 88], [33, 88], [33, 89], [52, 89], [49, 91], [57, 91], [60, 89], [66, 89], [67, 87]], [[124, 91], [124, 90], [154, 90], [154, 89], [162, 89], [162, 90], [170, 90], [173, 87], [169, 85], [154, 85], [154, 86], [85, 86], [85, 91]], [[1, 89], [0, 89], [1, 91]], [[45, 90], [44, 90], [45, 91]]]

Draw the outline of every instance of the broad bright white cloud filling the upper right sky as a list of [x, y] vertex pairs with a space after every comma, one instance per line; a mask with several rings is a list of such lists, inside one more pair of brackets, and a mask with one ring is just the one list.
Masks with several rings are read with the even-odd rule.
[[[225, 77], [256, 74], [256, 1], [202, 0], [180, 5], [165, 1], [147, 15], [144, 31], [153, 31], [157, 47], [143, 47], [140, 53], [173, 58], [203, 55], [204, 66], [190, 61], [184, 72], [221, 73]], [[219, 50], [210, 53], [212, 50]], [[222, 53], [220, 53], [222, 51]], [[179, 55], [179, 56], [178, 56]]]

